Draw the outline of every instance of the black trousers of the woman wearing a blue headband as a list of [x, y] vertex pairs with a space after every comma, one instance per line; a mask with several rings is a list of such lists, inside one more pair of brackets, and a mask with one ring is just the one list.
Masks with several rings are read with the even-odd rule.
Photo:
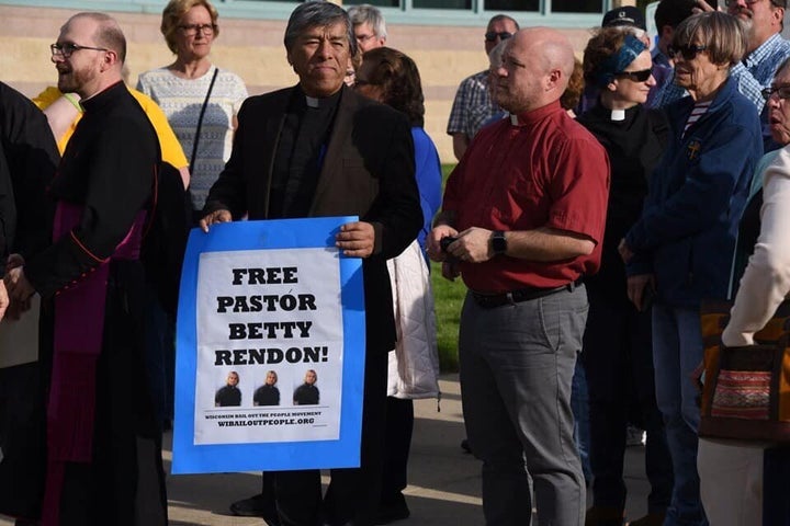
[[588, 287], [589, 315], [583, 359], [587, 373], [590, 466], [596, 506], [624, 508], [623, 457], [629, 422], [647, 432], [645, 471], [648, 510], [669, 505], [673, 470], [661, 412], [655, 401], [651, 312], [639, 312], [621, 295], [611, 298]]

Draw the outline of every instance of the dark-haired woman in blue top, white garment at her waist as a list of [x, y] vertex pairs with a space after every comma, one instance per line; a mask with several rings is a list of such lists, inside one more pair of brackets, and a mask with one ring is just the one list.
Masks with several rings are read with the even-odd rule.
[[417, 239], [400, 255], [387, 261], [398, 331], [396, 348], [390, 353], [386, 453], [376, 522], [387, 524], [409, 516], [403, 490], [407, 485], [406, 464], [414, 427], [413, 399], [439, 395], [433, 295], [422, 247], [441, 205], [441, 167], [436, 146], [422, 129], [422, 87], [414, 60], [388, 47], [365, 52], [354, 89], [409, 118], [422, 207], [422, 229]]

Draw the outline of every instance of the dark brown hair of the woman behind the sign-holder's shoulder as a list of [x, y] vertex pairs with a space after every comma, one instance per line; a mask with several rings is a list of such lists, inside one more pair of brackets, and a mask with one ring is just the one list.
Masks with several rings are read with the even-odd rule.
[[403, 112], [411, 126], [425, 124], [425, 98], [417, 65], [408, 56], [391, 47], [376, 47], [362, 55], [370, 71], [365, 79], [382, 90], [382, 102]]

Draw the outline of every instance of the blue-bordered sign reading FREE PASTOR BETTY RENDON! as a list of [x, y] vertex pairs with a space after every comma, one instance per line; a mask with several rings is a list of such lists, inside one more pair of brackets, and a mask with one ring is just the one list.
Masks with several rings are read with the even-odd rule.
[[359, 466], [362, 262], [356, 217], [194, 229], [178, 315], [173, 473]]

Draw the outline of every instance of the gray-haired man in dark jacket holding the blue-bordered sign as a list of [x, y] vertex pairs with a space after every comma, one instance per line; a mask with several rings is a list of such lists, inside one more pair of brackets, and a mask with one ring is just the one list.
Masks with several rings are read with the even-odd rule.
[[360, 217], [342, 226], [336, 245], [364, 259], [362, 466], [332, 470], [323, 507], [318, 470], [273, 477], [283, 525], [370, 525], [381, 485], [387, 352], [395, 347], [386, 260], [417, 237], [422, 221], [414, 145], [405, 116], [345, 87], [357, 41], [341, 8], [300, 4], [284, 43], [300, 82], [244, 103], [230, 160], [210, 192], [201, 227], [207, 231], [245, 214]]

